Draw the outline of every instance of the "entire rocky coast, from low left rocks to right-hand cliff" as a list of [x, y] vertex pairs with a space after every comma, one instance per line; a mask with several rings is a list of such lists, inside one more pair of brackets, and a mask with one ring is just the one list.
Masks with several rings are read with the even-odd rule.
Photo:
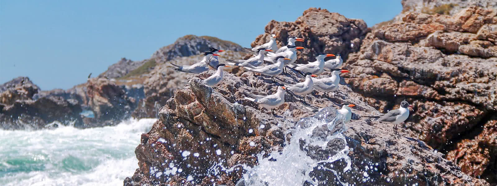
[[[497, 2], [402, 4], [401, 14], [372, 27], [361, 19], [310, 8], [294, 22], [269, 22], [251, 46], [267, 42], [271, 34], [276, 34], [278, 46], [286, 45], [286, 37], [297, 36], [306, 40], [297, 43], [305, 47], [300, 63], [313, 61], [318, 53], [342, 56], [342, 68], [350, 70], [343, 75], [343, 86], [329, 98], [313, 92], [307, 100], [320, 108], [356, 105], [343, 132], [346, 144], [330, 143], [324, 152], [313, 153], [319, 158], [335, 146], [353, 149], [348, 153], [353, 168], [339, 176], [340, 182], [496, 185]], [[281, 151], [299, 120], [316, 112], [288, 95], [276, 115], [244, 100], [243, 91], [267, 94], [276, 87], [240, 68], [232, 69], [214, 88], [200, 83], [212, 70], [190, 75], [167, 68], [169, 62], [198, 62], [209, 47], [227, 51], [220, 61], [248, 58], [233, 42], [187, 35], [150, 59], [123, 58], [68, 90], [42, 91], [28, 77], [18, 77], [0, 86], [0, 126], [86, 128], [115, 125], [130, 117], [158, 118], [151, 131], [142, 134], [135, 150], [136, 172], [124, 186], [234, 186], [243, 170], [213, 174], [210, 169], [215, 164], [227, 169], [257, 165], [256, 154]], [[277, 78], [295, 81], [285, 75]], [[186, 81], [190, 88], [182, 89], [181, 82]], [[392, 125], [363, 117], [386, 113], [403, 100], [414, 105], [414, 112], [400, 127], [402, 135], [395, 135]], [[186, 159], [186, 150], [201, 158]], [[165, 162], [174, 162], [175, 174], [166, 174], [172, 167]], [[364, 162], [375, 162], [375, 171], [365, 170]], [[337, 178], [325, 171], [315, 174]]]

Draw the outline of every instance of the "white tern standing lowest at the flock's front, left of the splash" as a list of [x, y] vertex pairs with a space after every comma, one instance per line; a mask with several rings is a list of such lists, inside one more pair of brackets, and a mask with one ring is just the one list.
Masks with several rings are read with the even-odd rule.
[[278, 90], [276, 91], [275, 94], [267, 95], [267, 96], [260, 96], [260, 95], [255, 95], [249, 92], [244, 92], [245, 99], [248, 99], [252, 102], [261, 104], [262, 107], [266, 109], [271, 109], [271, 112], [274, 115], [274, 108], [279, 107], [281, 104], [285, 103], [285, 91], [286, 88], [284, 86], [278, 86]]

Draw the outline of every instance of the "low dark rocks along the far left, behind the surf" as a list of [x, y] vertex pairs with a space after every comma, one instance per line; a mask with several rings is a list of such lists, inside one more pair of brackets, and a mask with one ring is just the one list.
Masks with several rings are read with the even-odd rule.
[[[135, 98], [144, 97], [136, 91], [143, 92], [143, 87], [126, 88], [106, 78], [91, 78], [67, 91], [41, 91], [29, 78], [19, 77], [3, 84], [1, 90], [3, 129], [114, 125], [131, 116], [137, 105]], [[85, 117], [83, 111], [92, 116]]]

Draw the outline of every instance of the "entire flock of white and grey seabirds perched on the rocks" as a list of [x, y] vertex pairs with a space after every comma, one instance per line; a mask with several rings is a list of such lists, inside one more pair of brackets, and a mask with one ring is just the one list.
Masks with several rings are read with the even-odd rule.
[[[266, 109], [270, 109], [274, 115], [274, 109], [285, 102], [285, 93], [292, 96], [299, 96], [300, 100], [305, 104], [305, 95], [311, 93], [313, 90], [324, 92], [326, 96], [329, 96], [328, 94], [330, 92], [338, 90], [340, 74], [350, 72], [349, 70], [341, 69], [343, 60], [340, 55], [318, 54], [316, 55], [315, 62], [308, 62], [306, 64], [295, 63], [297, 61], [297, 50], [304, 49], [304, 47], [297, 47], [295, 45], [295, 42], [298, 41], [303, 42], [304, 39], [290, 36], [288, 37], [288, 45], [278, 49], [278, 46], [276, 45], [276, 35], [272, 34], [269, 42], [253, 48], [244, 48], [243, 52], [253, 54], [253, 57], [247, 60], [227, 59], [226, 63], [229, 65], [220, 63], [218, 58], [220, 55], [217, 53], [223, 52], [223, 50], [211, 47], [209, 51], [204, 52], [204, 58], [200, 62], [182, 66], [171, 63], [171, 66], [169, 67], [181, 72], [199, 74], [207, 71], [210, 66], [217, 71], [203, 80], [203, 83], [209, 87], [214, 87], [222, 82], [223, 69], [226, 67], [240, 66], [247, 71], [253, 72], [253, 75], [259, 73], [269, 76], [273, 82], [276, 82], [274, 76], [286, 73], [285, 71], [288, 67], [296, 74], [303, 76], [305, 80], [295, 84], [279, 82], [284, 86], [278, 86], [276, 93], [266, 96], [255, 95], [249, 92], [244, 93], [246, 95], [245, 99], [258, 103]], [[336, 58], [325, 61], [326, 57]], [[268, 64], [264, 65], [264, 62]], [[322, 74], [324, 71], [331, 71], [331, 76], [318, 79], [318, 75]], [[352, 111], [350, 108], [354, 106], [355, 105], [348, 103], [342, 104], [341, 109], [338, 110], [338, 112], [343, 115], [344, 123], [351, 120]], [[384, 123], [395, 124], [394, 132], [397, 134], [397, 124], [404, 122], [409, 117], [408, 107], [411, 107], [409, 103], [403, 101], [399, 109], [392, 110], [381, 116], [370, 118], [375, 118]]]

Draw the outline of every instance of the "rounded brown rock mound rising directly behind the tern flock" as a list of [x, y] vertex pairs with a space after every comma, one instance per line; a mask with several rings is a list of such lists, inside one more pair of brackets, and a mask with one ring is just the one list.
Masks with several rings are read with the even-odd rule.
[[264, 28], [265, 33], [257, 36], [251, 46], [268, 42], [271, 34], [276, 34], [278, 47], [287, 45], [288, 36], [297, 36], [305, 39], [305, 42], [296, 42], [297, 46], [305, 48], [299, 50], [297, 62], [314, 62], [318, 53], [340, 54], [346, 60], [349, 53], [359, 50], [368, 30], [361, 19], [349, 19], [327, 9], [309, 8], [295, 22], [272, 20]]

